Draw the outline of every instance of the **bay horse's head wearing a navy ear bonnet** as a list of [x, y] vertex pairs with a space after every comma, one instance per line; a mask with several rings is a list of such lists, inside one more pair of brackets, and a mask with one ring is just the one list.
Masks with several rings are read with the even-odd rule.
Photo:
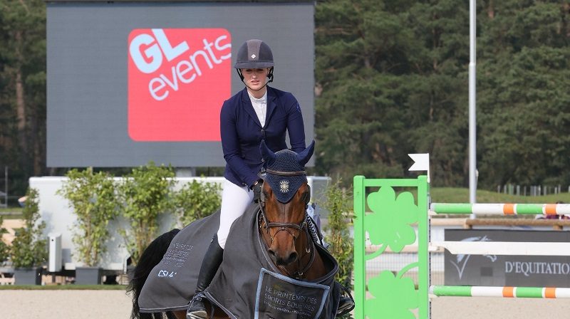
[[266, 162], [266, 177], [261, 190], [261, 216], [264, 236], [269, 236], [267, 250], [278, 266], [293, 263], [299, 249], [305, 249], [308, 236], [299, 239], [306, 230], [306, 206], [311, 199], [305, 164], [313, 155], [314, 142], [303, 152], [291, 150], [271, 152], [261, 142], [261, 155]]

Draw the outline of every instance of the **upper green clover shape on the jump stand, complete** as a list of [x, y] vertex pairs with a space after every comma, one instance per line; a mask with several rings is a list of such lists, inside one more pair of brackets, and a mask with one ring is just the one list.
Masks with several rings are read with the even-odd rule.
[[373, 214], [364, 217], [364, 225], [372, 244], [388, 245], [398, 253], [415, 242], [410, 225], [418, 222], [419, 209], [412, 193], [402, 192], [396, 198], [392, 187], [380, 187], [368, 195], [367, 202]]

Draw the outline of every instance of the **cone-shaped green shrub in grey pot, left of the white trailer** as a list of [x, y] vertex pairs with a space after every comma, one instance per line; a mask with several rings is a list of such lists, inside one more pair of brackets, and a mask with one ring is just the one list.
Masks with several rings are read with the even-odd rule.
[[29, 188], [26, 196], [26, 205], [22, 212], [25, 226], [16, 231], [16, 237], [12, 241], [11, 261], [14, 268], [40, 266], [48, 257], [48, 241], [43, 239], [46, 222], [38, 222], [38, 191]]

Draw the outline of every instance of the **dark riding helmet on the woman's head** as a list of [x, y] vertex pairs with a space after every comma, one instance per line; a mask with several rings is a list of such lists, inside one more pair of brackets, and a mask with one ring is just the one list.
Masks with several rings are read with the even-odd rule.
[[237, 70], [239, 78], [244, 81], [242, 68], [269, 68], [269, 82], [273, 82], [273, 53], [271, 48], [264, 41], [252, 39], [245, 41], [237, 51], [237, 59], [234, 68]]

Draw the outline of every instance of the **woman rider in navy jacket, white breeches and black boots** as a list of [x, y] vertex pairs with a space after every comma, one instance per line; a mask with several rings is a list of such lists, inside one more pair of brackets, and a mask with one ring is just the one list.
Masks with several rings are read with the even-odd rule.
[[229, 228], [255, 197], [259, 199], [259, 177], [263, 160], [261, 140], [273, 152], [288, 148], [285, 134], [289, 132], [291, 150], [305, 150], [303, 115], [296, 98], [288, 92], [267, 86], [273, 81], [273, 53], [261, 40], [246, 41], [237, 51], [234, 64], [246, 88], [222, 105], [220, 130], [226, 160], [219, 229], [206, 251], [196, 286], [197, 298], [188, 310], [190, 318], [206, 318], [202, 291], [209, 286], [222, 263], [222, 254]]

